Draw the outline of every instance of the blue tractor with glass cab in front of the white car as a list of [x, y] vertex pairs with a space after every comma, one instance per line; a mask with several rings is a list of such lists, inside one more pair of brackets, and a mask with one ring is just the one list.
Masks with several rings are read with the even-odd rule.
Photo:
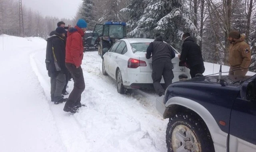
[[103, 56], [118, 40], [126, 38], [125, 22], [105, 22], [96, 24], [92, 34], [92, 45], [99, 43], [98, 54]]

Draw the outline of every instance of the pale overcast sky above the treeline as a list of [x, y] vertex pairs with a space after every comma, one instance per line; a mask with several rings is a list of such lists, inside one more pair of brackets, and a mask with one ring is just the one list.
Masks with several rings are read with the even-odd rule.
[[39, 11], [43, 16], [72, 19], [82, 0], [22, 0], [22, 6]]

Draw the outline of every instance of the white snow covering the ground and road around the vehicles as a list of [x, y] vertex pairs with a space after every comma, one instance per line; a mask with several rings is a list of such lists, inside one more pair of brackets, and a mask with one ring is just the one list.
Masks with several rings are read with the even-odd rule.
[[[116, 83], [102, 75], [98, 52], [85, 52], [81, 102], [87, 107], [68, 114], [64, 104], [50, 101], [45, 49], [42, 38], [0, 36], [0, 151], [166, 152], [168, 120], [155, 109], [154, 91], [118, 94]], [[206, 63], [204, 74], [218, 70], [218, 65]], [[73, 81], [68, 86], [70, 92]]]

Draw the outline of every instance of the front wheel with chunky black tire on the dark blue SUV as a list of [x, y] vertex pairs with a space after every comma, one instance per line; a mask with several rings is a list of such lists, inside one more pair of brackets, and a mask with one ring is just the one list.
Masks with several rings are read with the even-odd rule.
[[168, 152], [214, 152], [207, 126], [193, 114], [179, 113], [169, 119], [166, 145]]

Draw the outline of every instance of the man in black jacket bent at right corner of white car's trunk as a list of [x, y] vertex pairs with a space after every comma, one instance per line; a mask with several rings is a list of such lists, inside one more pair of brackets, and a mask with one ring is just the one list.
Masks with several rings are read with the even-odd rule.
[[189, 33], [184, 33], [182, 39], [184, 42], [179, 55], [180, 61], [186, 62], [187, 67], [190, 69], [191, 78], [194, 78], [198, 73], [203, 74], [205, 68], [199, 45], [190, 37]]

